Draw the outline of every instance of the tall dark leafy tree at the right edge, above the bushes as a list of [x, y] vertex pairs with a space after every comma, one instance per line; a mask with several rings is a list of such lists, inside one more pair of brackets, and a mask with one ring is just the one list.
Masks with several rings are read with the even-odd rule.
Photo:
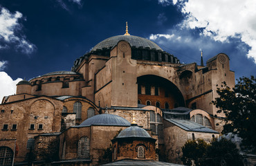
[[[218, 86], [218, 85], [217, 85]], [[212, 103], [226, 114], [223, 133], [237, 133], [242, 138], [241, 145], [256, 151], [256, 77], [240, 77], [235, 88], [230, 89], [226, 82], [217, 88], [219, 98]]]

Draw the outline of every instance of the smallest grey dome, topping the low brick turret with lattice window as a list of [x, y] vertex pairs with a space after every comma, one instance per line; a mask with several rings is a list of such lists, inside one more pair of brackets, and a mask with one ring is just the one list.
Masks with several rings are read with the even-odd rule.
[[121, 131], [116, 138], [152, 138], [145, 129], [138, 127], [137, 124], [131, 124], [131, 127]]

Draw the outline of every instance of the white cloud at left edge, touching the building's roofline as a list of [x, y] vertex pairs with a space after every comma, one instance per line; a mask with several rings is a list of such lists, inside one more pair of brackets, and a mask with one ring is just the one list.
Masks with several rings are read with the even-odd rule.
[[0, 71], [0, 102], [4, 96], [13, 95], [16, 93], [16, 84], [21, 80], [21, 78], [12, 80], [12, 78], [6, 72]]

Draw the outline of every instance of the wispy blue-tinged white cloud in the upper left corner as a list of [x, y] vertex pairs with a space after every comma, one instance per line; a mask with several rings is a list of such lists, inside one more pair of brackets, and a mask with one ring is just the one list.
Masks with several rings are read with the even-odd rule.
[[21, 53], [30, 54], [36, 50], [35, 44], [31, 44], [25, 35], [19, 34], [22, 25], [19, 19], [22, 18], [21, 12], [11, 13], [8, 9], [0, 6], [0, 49], [10, 48], [14, 45], [16, 50]]

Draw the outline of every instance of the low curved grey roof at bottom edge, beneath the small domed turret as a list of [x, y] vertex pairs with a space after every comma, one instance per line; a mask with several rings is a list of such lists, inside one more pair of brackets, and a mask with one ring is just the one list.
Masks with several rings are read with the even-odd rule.
[[161, 161], [156, 161], [156, 160], [131, 160], [131, 159], [125, 159], [125, 160], [118, 160], [113, 163], [107, 163], [104, 165], [159, 165], [159, 166], [179, 166], [177, 164], [173, 163], [165, 163]]

